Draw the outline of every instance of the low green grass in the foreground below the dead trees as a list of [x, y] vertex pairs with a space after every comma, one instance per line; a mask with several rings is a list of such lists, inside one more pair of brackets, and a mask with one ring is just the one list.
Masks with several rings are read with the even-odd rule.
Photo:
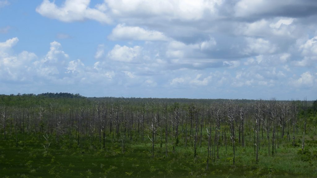
[[[43, 147], [40, 136], [29, 136], [16, 146], [14, 139], [0, 140], [1, 177], [316, 177], [314, 159], [305, 160], [298, 147], [281, 145], [274, 156], [260, 149], [259, 162], [255, 162], [252, 145], [236, 149], [236, 164], [232, 165], [232, 147], [220, 148], [219, 159], [210, 159], [206, 170], [207, 148], [198, 147], [193, 157], [191, 145], [176, 146], [165, 157], [165, 145], [155, 145], [155, 158], [151, 158], [151, 143], [126, 143], [122, 152], [119, 143], [107, 140], [101, 144], [79, 147], [77, 142], [52, 144]], [[98, 141], [95, 140], [97, 143]], [[312, 147], [314, 149], [314, 147]], [[313, 153], [311, 151], [310, 153]], [[313, 155], [313, 154], [312, 154]], [[313, 155], [314, 156], [314, 155]]]

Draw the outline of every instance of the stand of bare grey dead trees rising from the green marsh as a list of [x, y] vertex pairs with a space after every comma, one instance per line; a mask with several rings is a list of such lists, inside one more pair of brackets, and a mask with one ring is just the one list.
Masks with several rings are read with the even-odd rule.
[[[302, 113], [304, 117], [299, 117]], [[151, 157], [157, 147], [192, 147], [192, 156], [197, 158], [198, 147], [204, 147], [209, 160], [220, 159], [220, 149], [232, 153], [236, 162], [236, 150], [254, 147], [254, 160], [260, 161], [259, 150], [268, 150], [269, 156], [279, 149], [279, 143], [289, 141], [293, 146], [300, 139], [304, 150], [307, 133], [307, 101], [257, 100], [241, 103], [239, 100], [205, 103], [167, 103], [153, 101], [132, 102], [98, 100], [92, 104], [7, 106], [0, 105], [0, 139], [18, 134], [37, 134], [45, 138], [48, 149], [68, 139], [69, 146], [75, 140], [84, 151], [88, 145], [107, 149], [109, 144], [120, 143], [122, 153], [126, 143], [151, 142]], [[264, 136], [263, 136], [264, 135]], [[300, 136], [301, 135], [301, 136]], [[41, 137], [42, 136], [42, 137]], [[148, 139], [144, 139], [148, 137]], [[230, 138], [229, 138], [230, 137]], [[229, 138], [229, 139], [228, 139]], [[262, 142], [266, 145], [262, 146]], [[49, 144], [48, 144], [49, 143]], [[24, 143], [25, 144], [25, 143]], [[227, 145], [231, 149], [227, 150]], [[228, 153], [227, 153], [228, 152]]]

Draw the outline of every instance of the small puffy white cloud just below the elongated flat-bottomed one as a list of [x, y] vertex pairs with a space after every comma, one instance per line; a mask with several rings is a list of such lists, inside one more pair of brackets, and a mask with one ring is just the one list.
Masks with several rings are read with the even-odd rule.
[[133, 62], [141, 54], [142, 48], [134, 46], [133, 48], [127, 46], [115, 45], [113, 49], [108, 53], [108, 57], [112, 60], [122, 62]]

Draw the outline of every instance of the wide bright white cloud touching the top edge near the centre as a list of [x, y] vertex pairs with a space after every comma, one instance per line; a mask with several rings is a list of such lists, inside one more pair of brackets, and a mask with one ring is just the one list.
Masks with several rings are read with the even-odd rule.
[[200, 20], [205, 14], [214, 18], [217, 15], [216, 7], [221, 3], [222, 0], [107, 0], [107, 5], [115, 16], [159, 16], [181, 21]]

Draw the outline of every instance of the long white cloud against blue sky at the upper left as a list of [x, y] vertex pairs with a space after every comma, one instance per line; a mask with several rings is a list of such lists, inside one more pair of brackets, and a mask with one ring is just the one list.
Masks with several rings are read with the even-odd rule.
[[42, 16], [57, 19], [62, 22], [95, 20], [101, 23], [110, 23], [111, 19], [100, 9], [89, 8], [90, 0], [66, 0], [61, 7], [55, 1], [43, 0], [36, 8]]

